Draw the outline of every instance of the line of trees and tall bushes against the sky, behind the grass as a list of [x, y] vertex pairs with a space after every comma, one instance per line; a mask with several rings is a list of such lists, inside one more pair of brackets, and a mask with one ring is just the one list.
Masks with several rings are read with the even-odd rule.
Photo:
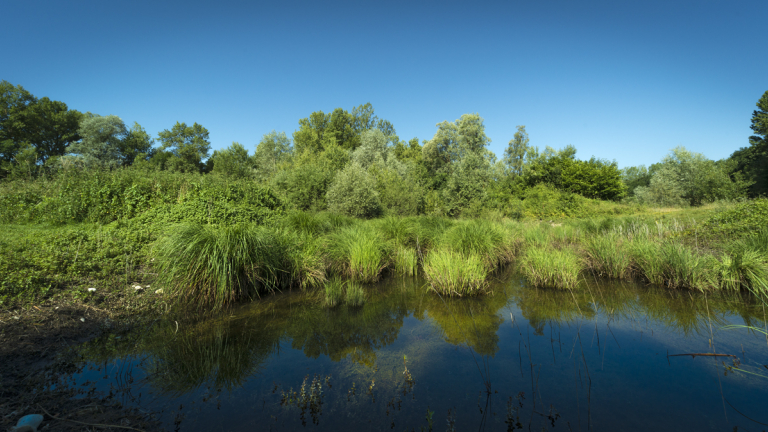
[[[211, 153], [208, 130], [197, 123], [177, 122], [153, 138], [138, 123], [128, 128], [114, 115], [69, 110], [7, 81], [0, 83], [0, 98], [5, 182], [80, 177], [74, 172], [185, 173], [192, 182], [203, 176], [211, 184], [258, 185], [286, 208], [362, 218], [475, 216], [489, 210], [519, 218], [542, 195], [560, 202], [554, 213], [565, 215], [584, 198], [700, 205], [768, 189], [768, 92], [753, 114], [750, 146], [730, 158], [712, 161], [680, 147], [658, 164], [623, 170], [603, 159], [576, 159], [572, 146], [540, 150], [524, 126], [499, 159], [487, 148], [490, 139], [478, 114], [439, 123], [429, 140], [405, 141], [370, 104], [337, 108], [299, 120], [292, 137], [265, 135], [253, 153], [237, 142]], [[120, 175], [121, 181], [130, 177], [136, 178]]]

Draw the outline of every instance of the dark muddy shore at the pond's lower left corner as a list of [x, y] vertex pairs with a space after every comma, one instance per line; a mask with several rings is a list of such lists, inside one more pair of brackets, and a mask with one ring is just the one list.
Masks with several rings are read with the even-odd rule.
[[0, 310], [0, 431], [19, 418], [42, 414], [40, 431], [156, 431], [156, 416], [126, 408], [92, 385], [72, 388], [64, 377], [82, 367], [72, 349], [105, 332], [128, 330], [162, 313], [153, 293], [107, 293], [86, 302], [48, 300]]

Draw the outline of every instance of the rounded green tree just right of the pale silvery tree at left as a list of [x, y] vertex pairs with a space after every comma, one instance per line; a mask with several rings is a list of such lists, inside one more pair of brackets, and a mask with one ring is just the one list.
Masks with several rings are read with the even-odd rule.
[[160, 149], [171, 154], [165, 162], [166, 169], [179, 172], [201, 172], [203, 159], [208, 157], [211, 142], [208, 141], [208, 130], [195, 123], [187, 126], [179, 123], [171, 130], [158, 134]]

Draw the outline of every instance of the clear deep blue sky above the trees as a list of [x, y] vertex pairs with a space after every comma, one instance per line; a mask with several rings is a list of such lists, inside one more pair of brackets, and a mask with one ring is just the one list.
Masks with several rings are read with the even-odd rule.
[[748, 145], [768, 1], [4, 0], [0, 79], [152, 135], [200, 123], [251, 152], [370, 102], [401, 139], [464, 113], [620, 167]]

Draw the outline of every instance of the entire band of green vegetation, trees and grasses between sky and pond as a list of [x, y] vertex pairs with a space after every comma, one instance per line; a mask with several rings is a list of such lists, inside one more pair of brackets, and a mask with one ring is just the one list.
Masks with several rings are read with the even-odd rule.
[[354, 305], [387, 274], [420, 273], [467, 296], [510, 263], [535, 286], [577, 289], [590, 271], [768, 292], [768, 201], [745, 200], [762, 187], [768, 92], [749, 150], [711, 161], [676, 148], [619, 171], [539, 150], [524, 126], [497, 160], [478, 114], [406, 142], [370, 104], [312, 113], [253, 155], [210, 155], [197, 123], [155, 147], [138, 124], [0, 85], [3, 307], [134, 283], [204, 309], [320, 287], [328, 306]]

